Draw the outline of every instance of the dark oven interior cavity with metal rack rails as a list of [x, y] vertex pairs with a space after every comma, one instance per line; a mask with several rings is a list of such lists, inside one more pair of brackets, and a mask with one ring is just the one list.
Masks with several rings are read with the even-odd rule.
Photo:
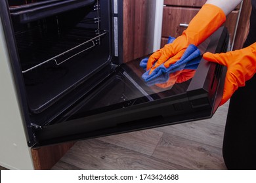
[[111, 9], [111, 2], [102, 0], [9, 1], [32, 114], [51, 108], [77, 86], [92, 82], [102, 69], [109, 69]]

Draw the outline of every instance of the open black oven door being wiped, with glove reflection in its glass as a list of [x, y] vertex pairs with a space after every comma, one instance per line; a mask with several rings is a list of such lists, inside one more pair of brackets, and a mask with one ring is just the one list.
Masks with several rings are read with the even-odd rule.
[[[201, 52], [224, 52], [221, 27], [201, 44]], [[223, 94], [225, 68], [203, 59], [194, 69], [144, 82], [140, 59], [116, 67], [93, 92], [62, 112], [51, 125], [35, 129], [36, 146], [76, 141], [211, 118]], [[190, 69], [187, 69], [190, 68]]]

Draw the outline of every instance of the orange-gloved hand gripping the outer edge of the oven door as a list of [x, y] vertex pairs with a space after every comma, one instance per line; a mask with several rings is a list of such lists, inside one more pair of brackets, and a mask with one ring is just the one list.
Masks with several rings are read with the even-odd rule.
[[241, 50], [226, 52], [225, 54], [203, 54], [207, 61], [213, 61], [220, 65], [225, 65], [228, 70], [224, 83], [223, 105], [230, 99], [238, 87], [245, 86], [245, 81], [249, 80], [256, 73], [256, 42]]

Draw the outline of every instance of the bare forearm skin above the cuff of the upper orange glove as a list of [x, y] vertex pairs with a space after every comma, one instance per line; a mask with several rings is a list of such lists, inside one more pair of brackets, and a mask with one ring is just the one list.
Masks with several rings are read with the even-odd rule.
[[205, 4], [212, 4], [221, 8], [228, 15], [242, 0], [208, 0]]

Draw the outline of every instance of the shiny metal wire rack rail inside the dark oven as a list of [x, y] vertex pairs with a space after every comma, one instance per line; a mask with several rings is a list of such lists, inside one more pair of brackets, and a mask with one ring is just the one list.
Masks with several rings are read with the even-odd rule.
[[[47, 59], [47, 60], [45, 60], [45, 61], [43, 61], [43, 62], [41, 62], [41, 63], [39, 63], [39, 64], [37, 64], [37, 65], [35, 65], [33, 67], [30, 67], [29, 69], [26, 69], [25, 71], [22, 71], [22, 73], [23, 74], [24, 73], [28, 73], [29, 71], [32, 71], [33, 69], [35, 69], [37, 67], [40, 67], [41, 65], [44, 65], [45, 63], [48, 63], [49, 61], [54, 61], [56, 65], [60, 65], [60, 64], [62, 64], [64, 62], [68, 61], [69, 59], [74, 58], [74, 56], [77, 56], [78, 54], [81, 54], [81, 53], [85, 52], [86, 50], [89, 50], [89, 49], [93, 48], [95, 46], [96, 39], [98, 39], [100, 37], [103, 37], [105, 34], [106, 34], [106, 31], [104, 31], [100, 35], [97, 35], [96, 37], [93, 37], [92, 39], [89, 39], [88, 41], [85, 41], [85, 42], [75, 46], [74, 48], [71, 48], [70, 50], [66, 50], [65, 52], [62, 52], [61, 54], [58, 54], [58, 55], [54, 56], [53, 58]], [[65, 54], [68, 54], [69, 52], [77, 50], [78, 48], [81, 48], [81, 46], [83, 46], [83, 45], [85, 45], [85, 44], [87, 44], [89, 42], [91, 42], [91, 45], [89, 47], [87, 47], [87, 48], [85, 48], [85, 49], [83, 49], [83, 50], [73, 54], [69, 58], [66, 58], [66, 59], [64, 59], [63, 61], [60, 61], [60, 62], [58, 62], [56, 60], [56, 59], [60, 58], [60, 56], [64, 56]]]

